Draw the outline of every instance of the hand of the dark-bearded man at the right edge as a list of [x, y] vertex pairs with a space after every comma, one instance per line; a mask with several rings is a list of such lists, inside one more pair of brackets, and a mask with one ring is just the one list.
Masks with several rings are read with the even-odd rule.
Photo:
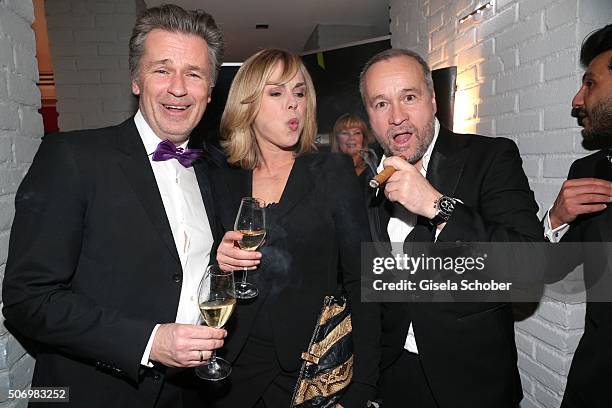
[[612, 182], [596, 178], [565, 180], [548, 213], [550, 226], [555, 229], [569, 224], [580, 214], [603, 211], [611, 201]]

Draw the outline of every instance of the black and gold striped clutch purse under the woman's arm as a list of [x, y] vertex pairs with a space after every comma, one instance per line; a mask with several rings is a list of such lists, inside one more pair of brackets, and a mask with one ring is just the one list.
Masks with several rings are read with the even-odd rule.
[[353, 377], [351, 313], [346, 295], [325, 296], [323, 308], [302, 353], [292, 408], [333, 407]]

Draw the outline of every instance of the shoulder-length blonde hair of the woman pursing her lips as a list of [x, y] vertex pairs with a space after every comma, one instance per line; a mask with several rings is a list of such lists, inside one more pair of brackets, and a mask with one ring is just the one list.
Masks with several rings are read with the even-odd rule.
[[270, 76], [279, 64], [283, 72], [275, 85], [289, 82], [300, 72], [306, 86], [304, 128], [294, 148], [295, 155], [316, 150], [317, 102], [310, 74], [299, 56], [284, 50], [264, 49], [249, 57], [238, 70], [221, 116], [221, 146], [231, 165], [252, 170], [261, 162], [252, 125], [261, 106], [264, 88], [270, 84]]

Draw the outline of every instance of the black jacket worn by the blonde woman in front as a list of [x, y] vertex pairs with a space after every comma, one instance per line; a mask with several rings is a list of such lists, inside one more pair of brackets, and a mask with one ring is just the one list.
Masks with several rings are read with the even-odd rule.
[[[216, 171], [213, 192], [223, 229], [233, 230], [241, 197], [252, 195], [252, 172]], [[237, 358], [261, 306], [270, 302], [278, 360], [284, 370], [297, 370], [323, 298], [336, 290], [340, 269], [352, 307], [355, 353], [353, 384], [342, 403], [362, 407], [375, 392], [379, 328], [377, 317], [366, 317], [367, 305], [360, 303], [359, 250], [370, 234], [350, 158], [329, 153], [297, 157], [280, 202], [269, 214], [274, 217], [266, 219], [262, 262], [249, 274], [260, 293], [236, 308], [224, 347], [227, 358]]]

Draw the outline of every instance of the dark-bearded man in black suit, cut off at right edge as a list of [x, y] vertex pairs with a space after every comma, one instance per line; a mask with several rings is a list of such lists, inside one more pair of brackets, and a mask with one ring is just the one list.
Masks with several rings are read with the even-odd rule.
[[[551, 242], [586, 242], [584, 250], [554, 252], [550, 280], [565, 277], [583, 264], [587, 287], [584, 334], [567, 379], [563, 408], [612, 406], [612, 24], [583, 43], [586, 68], [572, 101], [572, 116], [583, 127], [583, 145], [599, 149], [576, 160], [552, 208], [544, 218]], [[602, 296], [603, 294], [603, 296]], [[604, 302], [607, 301], [607, 302]]]

